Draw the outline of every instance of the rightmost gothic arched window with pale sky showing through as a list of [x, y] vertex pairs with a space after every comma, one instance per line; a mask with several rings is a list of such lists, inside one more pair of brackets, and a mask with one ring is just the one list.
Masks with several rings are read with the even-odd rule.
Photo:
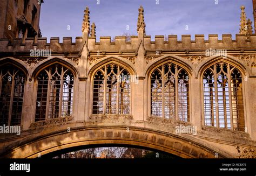
[[206, 69], [203, 84], [205, 125], [244, 131], [241, 72], [219, 62]]

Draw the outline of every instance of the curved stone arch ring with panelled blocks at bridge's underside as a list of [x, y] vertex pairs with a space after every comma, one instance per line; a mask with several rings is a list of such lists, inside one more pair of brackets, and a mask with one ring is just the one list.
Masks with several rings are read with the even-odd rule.
[[[215, 151], [181, 136], [126, 126], [93, 126], [61, 130], [22, 139], [8, 146], [1, 158], [36, 158], [75, 146], [122, 144], [147, 147], [181, 158], [214, 158]], [[227, 154], [218, 153], [219, 158]]]

